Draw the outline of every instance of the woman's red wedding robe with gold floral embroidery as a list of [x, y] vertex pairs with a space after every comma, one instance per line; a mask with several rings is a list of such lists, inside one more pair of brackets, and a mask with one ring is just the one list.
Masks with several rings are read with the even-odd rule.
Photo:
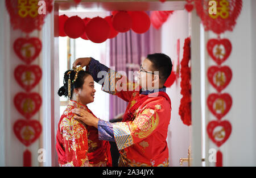
[[72, 109], [75, 108], [92, 113], [88, 107], [69, 101], [61, 115], [56, 136], [60, 166], [112, 166], [109, 142], [98, 140], [96, 128], [74, 119]]

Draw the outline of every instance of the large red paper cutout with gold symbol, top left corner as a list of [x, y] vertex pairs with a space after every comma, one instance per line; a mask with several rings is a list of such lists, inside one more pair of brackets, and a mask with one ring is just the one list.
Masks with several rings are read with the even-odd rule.
[[46, 3], [46, 14], [39, 14], [38, 11], [43, 9], [43, 7], [38, 5], [38, 1], [5, 0], [5, 5], [10, 15], [10, 22], [14, 30], [20, 29], [26, 33], [41, 30], [44, 18], [46, 18], [47, 14], [51, 13], [53, 7], [53, 0], [44, 0], [44, 2]]

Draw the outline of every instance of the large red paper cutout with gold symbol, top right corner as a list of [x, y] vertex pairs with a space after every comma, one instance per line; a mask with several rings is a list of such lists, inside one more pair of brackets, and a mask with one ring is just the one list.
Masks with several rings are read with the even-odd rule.
[[212, 30], [221, 34], [227, 30], [233, 31], [236, 20], [242, 9], [242, 0], [215, 0], [217, 2], [217, 14], [209, 14], [209, 1], [195, 0], [197, 14], [204, 24], [205, 31]]

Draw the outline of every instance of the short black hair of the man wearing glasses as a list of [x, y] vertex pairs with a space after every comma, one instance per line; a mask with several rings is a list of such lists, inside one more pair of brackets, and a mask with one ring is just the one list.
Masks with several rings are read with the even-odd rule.
[[164, 84], [172, 72], [171, 58], [163, 53], [154, 53], [147, 55], [147, 59], [153, 64], [154, 71], [159, 71], [160, 80]]

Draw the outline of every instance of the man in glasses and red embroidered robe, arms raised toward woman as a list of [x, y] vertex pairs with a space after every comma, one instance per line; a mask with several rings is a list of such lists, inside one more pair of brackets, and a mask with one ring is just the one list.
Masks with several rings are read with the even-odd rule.
[[170, 57], [163, 53], [147, 55], [139, 70], [138, 84], [92, 57], [76, 59], [73, 66], [77, 65], [86, 66], [94, 81], [102, 85], [102, 90], [129, 104], [122, 122], [106, 122], [81, 109], [73, 110], [75, 118], [96, 127], [99, 139], [117, 144], [119, 166], [168, 166], [166, 138], [171, 100], [164, 83], [172, 71]]

